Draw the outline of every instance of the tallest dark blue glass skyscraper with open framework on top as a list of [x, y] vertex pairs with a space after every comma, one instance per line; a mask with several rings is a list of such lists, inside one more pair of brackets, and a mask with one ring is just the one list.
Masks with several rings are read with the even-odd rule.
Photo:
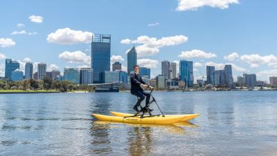
[[110, 71], [111, 35], [94, 34], [91, 42], [93, 83], [105, 82], [105, 71]]

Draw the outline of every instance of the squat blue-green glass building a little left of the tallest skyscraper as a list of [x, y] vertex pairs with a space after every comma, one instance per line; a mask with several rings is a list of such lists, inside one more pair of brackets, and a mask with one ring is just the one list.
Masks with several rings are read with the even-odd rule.
[[77, 68], [64, 68], [64, 80], [68, 80], [71, 83], [80, 83], [80, 73]]

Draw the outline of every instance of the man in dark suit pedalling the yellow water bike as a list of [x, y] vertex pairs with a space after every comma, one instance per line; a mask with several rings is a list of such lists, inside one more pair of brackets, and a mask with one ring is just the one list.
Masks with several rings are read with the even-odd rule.
[[131, 94], [134, 96], [138, 96], [139, 100], [136, 102], [136, 105], [134, 105], [133, 109], [136, 112], [139, 112], [138, 107], [141, 106], [141, 101], [144, 100], [146, 96], [145, 106], [149, 107], [149, 101], [150, 101], [150, 94], [147, 92], [143, 92], [143, 88], [150, 87], [148, 84], [146, 84], [142, 79], [141, 76], [139, 76], [139, 66], [134, 66], [134, 73], [131, 74]]

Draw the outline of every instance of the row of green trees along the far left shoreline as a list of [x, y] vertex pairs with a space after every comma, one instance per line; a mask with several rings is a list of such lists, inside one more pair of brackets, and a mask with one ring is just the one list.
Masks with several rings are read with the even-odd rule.
[[88, 91], [92, 92], [95, 87], [89, 85], [77, 85], [70, 81], [58, 81], [52, 78], [44, 77], [44, 80], [25, 79], [22, 81], [0, 80], [0, 89], [20, 89], [20, 90], [38, 90], [38, 89], [55, 89], [60, 92], [72, 92], [72, 91]]

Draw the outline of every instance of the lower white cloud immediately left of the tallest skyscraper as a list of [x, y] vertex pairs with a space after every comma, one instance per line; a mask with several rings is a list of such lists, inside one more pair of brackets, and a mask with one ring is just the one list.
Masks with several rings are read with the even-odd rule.
[[70, 63], [91, 64], [91, 57], [82, 51], [64, 51], [59, 55], [59, 58]]

